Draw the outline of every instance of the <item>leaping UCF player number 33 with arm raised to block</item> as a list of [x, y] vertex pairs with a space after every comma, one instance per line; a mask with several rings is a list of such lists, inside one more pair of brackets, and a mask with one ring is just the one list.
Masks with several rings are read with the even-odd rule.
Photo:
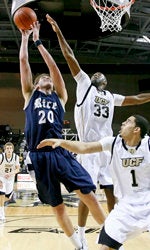
[[[47, 21], [56, 32], [62, 53], [68, 63], [71, 74], [77, 82], [75, 105], [75, 123], [79, 139], [85, 142], [98, 141], [105, 136], [112, 136], [112, 120], [115, 106], [139, 105], [150, 101], [150, 93], [134, 96], [113, 94], [105, 90], [106, 77], [95, 73], [91, 78], [81, 69], [75, 55], [65, 40], [55, 20], [46, 15]], [[78, 155], [78, 160], [91, 175], [93, 182], [103, 188], [107, 198], [108, 211], [115, 204], [112, 178], [109, 171], [110, 152]], [[88, 216], [87, 206], [80, 201], [78, 213], [78, 232], [86, 245], [85, 225]], [[88, 247], [86, 248], [88, 249]]]

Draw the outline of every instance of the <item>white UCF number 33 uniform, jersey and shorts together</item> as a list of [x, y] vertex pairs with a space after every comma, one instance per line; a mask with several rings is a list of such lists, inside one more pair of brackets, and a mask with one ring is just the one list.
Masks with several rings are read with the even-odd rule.
[[[114, 106], [121, 106], [124, 96], [98, 91], [91, 86], [89, 76], [80, 71], [75, 77], [77, 82], [77, 103], [75, 105], [75, 124], [80, 141], [98, 141], [113, 134], [112, 119]], [[78, 155], [78, 161], [91, 175], [95, 185], [112, 185], [109, 173], [110, 153]]]

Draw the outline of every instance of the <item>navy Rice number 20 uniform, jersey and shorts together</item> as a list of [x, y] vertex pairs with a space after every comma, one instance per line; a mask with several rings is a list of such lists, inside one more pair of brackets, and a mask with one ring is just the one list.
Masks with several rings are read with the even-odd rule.
[[46, 95], [36, 90], [25, 114], [25, 137], [40, 200], [54, 207], [61, 204], [61, 183], [69, 192], [79, 189], [87, 194], [95, 190], [90, 175], [69, 151], [49, 146], [36, 149], [41, 140], [62, 138], [64, 109], [57, 94]]

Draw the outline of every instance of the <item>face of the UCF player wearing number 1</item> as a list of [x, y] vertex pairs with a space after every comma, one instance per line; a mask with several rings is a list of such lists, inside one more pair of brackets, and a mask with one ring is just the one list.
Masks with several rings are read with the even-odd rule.
[[127, 138], [132, 139], [135, 129], [136, 129], [135, 117], [130, 116], [126, 121], [122, 123], [119, 133], [123, 139]]

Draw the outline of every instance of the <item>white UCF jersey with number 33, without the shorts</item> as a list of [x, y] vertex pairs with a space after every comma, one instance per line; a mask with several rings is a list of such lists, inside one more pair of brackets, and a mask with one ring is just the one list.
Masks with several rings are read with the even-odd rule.
[[74, 78], [77, 82], [75, 124], [79, 139], [90, 142], [112, 136], [114, 106], [121, 106], [125, 97], [107, 90], [98, 91], [82, 70]]

